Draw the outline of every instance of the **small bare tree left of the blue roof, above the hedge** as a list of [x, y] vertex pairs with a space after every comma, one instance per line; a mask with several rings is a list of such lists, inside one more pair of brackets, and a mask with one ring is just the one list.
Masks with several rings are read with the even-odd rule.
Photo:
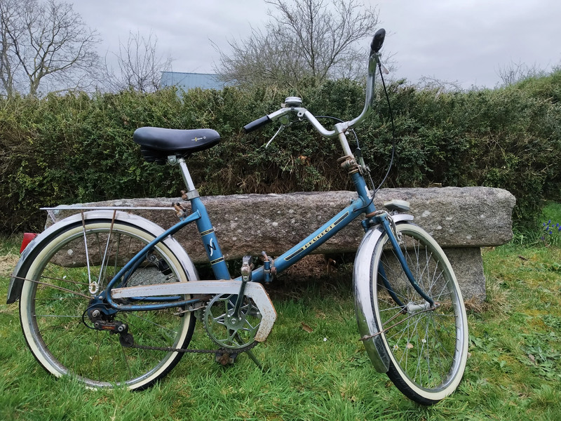
[[158, 37], [152, 32], [148, 38], [141, 36], [140, 32], [130, 32], [127, 44], [119, 42], [119, 54], [114, 53], [117, 72], [109, 67], [105, 59], [107, 88], [114, 92], [124, 89], [156, 91], [160, 86], [161, 72], [168, 72], [172, 63], [169, 56], [158, 55], [157, 44]]

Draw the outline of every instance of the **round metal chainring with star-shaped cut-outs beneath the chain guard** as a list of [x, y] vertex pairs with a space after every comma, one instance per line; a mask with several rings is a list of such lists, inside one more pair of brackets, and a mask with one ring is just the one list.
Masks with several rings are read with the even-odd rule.
[[206, 306], [203, 325], [208, 337], [217, 345], [227, 349], [243, 349], [255, 342], [262, 315], [257, 305], [244, 296], [239, 316], [234, 316], [236, 294], [215, 295]]

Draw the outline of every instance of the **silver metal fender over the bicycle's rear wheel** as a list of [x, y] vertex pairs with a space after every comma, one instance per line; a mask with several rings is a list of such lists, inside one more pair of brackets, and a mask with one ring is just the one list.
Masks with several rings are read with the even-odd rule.
[[[83, 218], [84, 220], [109, 220], [109, 222], [111, 222], [114, 215], [115, 221], [124, 222], [128, 225], [134, 225], [137, 228], [149, 232], [154, 237], [161, 235], [164, 232], [164, 229], [159, 225], [154, 224], [154, 222], [151, 222], [146, 218], [142, 218], [141, 216], [133, 215], [132, 213], [119, 211], [114, 212], [114, 210], [92, 210], [90, 212], [84, 212]], [[27, 274], [29, 265], [43, 246], [45, 246], [48, 241], [55, 238], [55, 236], [60, 235], [68, 229], [69, 226], [75, 226], [76, 224], [81, 223], [81, 213], [69, 216], [68, 218], [51, 225], [29, 242], [25, 250], [23, 250], [20, 260], [18, 260], [18, 264], [15, 265], [15, 269], [10, 279], [10, 285], [8, 286], [8, 299], [6, 300], [8, 304], [13, 303], [20, 298], [23, 282], [25, 281], [25, 275]], [[180, 246], [180, 243], [171, 236], [166, 237], [162, 242], [173, 252], [173, 254], [175, 254], [177, 260], [180, 261], [185, 274], [187, 274], [187, 279], [198, 279], [198, 273], [195, 266], [193, 265], [191, 258], [189, 258], [189, 255], [187, 255], [187, 252], [185, 252], [182, 246]]]

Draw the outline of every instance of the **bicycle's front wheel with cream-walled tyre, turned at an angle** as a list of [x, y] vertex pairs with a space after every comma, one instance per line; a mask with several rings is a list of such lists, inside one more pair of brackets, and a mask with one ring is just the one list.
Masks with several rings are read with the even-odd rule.
[[459, 385], [468, 354], [468, 325], [459, 285], [442, 248], [424, 229], [397, 225], [400, 250], [431, 306], [412, 287], [387, 234], [372, 255], [374, 320], [389, 357], [388, 377], [424, 405]]

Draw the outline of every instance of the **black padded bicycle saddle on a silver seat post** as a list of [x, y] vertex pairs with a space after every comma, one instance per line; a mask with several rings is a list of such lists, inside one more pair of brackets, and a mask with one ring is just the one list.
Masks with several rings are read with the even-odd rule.
[[220, 135], [210, 128], [179, 130], [141, 127], [135, 130], [133, 140], [140, 145], [144, 159], [163, 164], [168, 161], [170, 155], [184, 157], [217, 145]]

